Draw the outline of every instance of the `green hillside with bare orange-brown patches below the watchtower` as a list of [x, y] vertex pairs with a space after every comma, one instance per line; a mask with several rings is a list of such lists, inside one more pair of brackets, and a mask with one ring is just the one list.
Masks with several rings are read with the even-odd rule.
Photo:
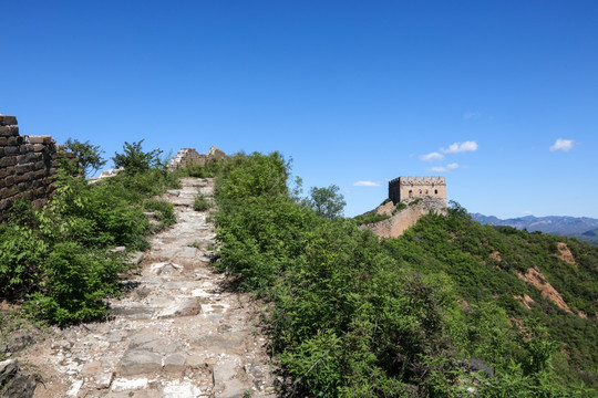
[[464, 308], [493, 302], [515, 327], [546, 326], [560, 345], [554, 366], [564, 383], [597, 386], [598, 248], [482, 226], [464, 211], [460, 217], [427, 216], [383, 245], [414, 269], [448, 274], [467, 303]]

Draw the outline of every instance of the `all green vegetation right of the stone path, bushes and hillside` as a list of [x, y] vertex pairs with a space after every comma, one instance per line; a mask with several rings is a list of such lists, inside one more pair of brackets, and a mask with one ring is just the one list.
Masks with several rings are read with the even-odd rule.
[[[557, 238], [482, 227], [458, 206], [381, 242], [353, 220], [319, 217], [289, 193], [288, 174], [277, 153], [229, 158], [216, 222], [219, 266], [271, 302], [290, 395], [592, 395], [580, 381], [597, 385], [595, 248], [565, 240], [578, 260], [569, 265]], [[533, 265], [590, 316], [520, 282], [514, 272]], [[514, 298], [524, 293], [532, 310]]]

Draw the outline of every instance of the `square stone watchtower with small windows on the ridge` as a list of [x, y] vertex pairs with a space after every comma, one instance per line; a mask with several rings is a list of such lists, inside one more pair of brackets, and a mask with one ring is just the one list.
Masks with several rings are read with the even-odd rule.
[[389, 199], [393, 203], [415, 198], [435, 198], [446, 203], [444, 177], [399, 177], [389, 182]]

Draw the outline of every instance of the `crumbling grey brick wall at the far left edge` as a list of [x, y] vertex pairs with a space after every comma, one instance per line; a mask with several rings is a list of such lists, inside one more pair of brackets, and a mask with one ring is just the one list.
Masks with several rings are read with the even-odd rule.
[[0, 220], [10, 202], [24, 196], [41, 206], [52, 193], [56, 145], [51, 136], [19, 134], [17, 117], [0, 115]]

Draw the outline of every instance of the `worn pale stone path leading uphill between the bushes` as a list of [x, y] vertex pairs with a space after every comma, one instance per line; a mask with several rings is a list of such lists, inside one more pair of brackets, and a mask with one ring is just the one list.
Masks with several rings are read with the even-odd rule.
[[56, 331], [24, 359], [44, 385], [34, 397], [274, 397], [271, 366], [255, 304], [226, 289], [210, 265], [206, 212], [193, 210], [209, 179], [168, 191], [177, 223], [156, 234], [114, 317]]

